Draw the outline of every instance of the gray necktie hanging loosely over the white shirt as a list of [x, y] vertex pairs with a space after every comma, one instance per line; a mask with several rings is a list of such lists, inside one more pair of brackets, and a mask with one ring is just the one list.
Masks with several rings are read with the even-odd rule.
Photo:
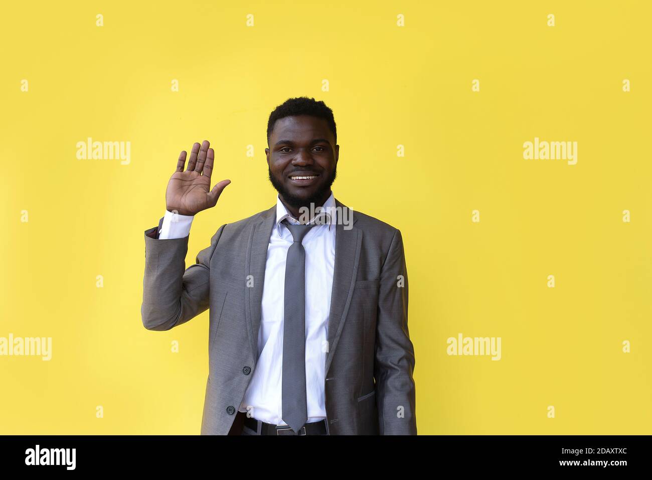
[[295, 434], [308, 420], [306, 400], [306, 251], [303, 237], [315, 225], [288, 227], [294, 240], [288, 248], [283, 323], [283, 421]]

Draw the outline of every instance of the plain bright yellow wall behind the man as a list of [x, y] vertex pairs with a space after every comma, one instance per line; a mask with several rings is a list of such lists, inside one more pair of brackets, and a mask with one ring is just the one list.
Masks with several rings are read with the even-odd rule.
[[[49, 362], [0, 357], [0, 434], [200, 432], [208, 313], [143, 328], [143, 231], [179, 152], [203, 139], [213, 184], [232, 184], [196, 217], [186, 266], [220, 225], [272, 206], [267, 118], [302, 95], [334, 111], [335, 196], [402, 231], [419, 434], [652, 433], [651, 14], [644, 1], [4, 5], [0, 336], [53, 345]], [[89, 136], [131, 142], [130, 164], [78, 160]], [[524, 160], [535, 136], [578, 142], [577, 165]], [[460, 332], [501, 337], [502, 359], [447, 355]]]

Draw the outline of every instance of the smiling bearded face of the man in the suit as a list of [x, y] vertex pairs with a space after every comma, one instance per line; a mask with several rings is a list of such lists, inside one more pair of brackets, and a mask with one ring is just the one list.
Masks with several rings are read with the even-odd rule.
[[269, 180], [286, 204], [321, 205], [330, 197], [340, 146], [325, 120], [308, 115], [276, 120], [265, 153]]

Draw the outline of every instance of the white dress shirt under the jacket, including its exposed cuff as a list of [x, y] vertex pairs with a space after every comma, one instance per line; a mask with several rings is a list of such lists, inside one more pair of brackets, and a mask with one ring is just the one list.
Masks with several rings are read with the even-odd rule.
[[[325, 222], [312, 227], [303, 239], [306, 250], [306, 395], [307, 423], [326, 418], [324, 396], [328, 321], [335, 265], [335, 199], [323, 204]], [[316, 216], [317, 217], [317, 216]], [[184, 238], [194, 216], [166, 212], [158, 238]], [[276, 197], [276, 224], [267, 246], [265, 282], [258, 330], [258, 360], [239, 411], [249, 408], [263, 422], [285, 425], [282, 420], [283, 317], [285, 311], [285, 267], [292, 234], [281, 223], [299, 223]], [[310, 223], [314, 222], [314, 218]]]

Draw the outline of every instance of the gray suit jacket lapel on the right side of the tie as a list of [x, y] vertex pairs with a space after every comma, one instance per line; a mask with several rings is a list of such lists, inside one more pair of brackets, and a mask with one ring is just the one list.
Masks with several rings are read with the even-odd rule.
[[[342, 210], [348, 208], [346, 205], [335, 199], [335, 205]], [[338, 210], [338, 211], [342, 211]], [[356, 215], [353, 214], [353, 225]], [[335, 266], [333, 270], [333, 291], [331, 292], [331, 310], [328, 322], [328, 353], [326, 356], [325, 374], [328, 374], [329, 367], [333, 360], [333, 354], [337, 347], [346, 314], [349, 311], [355, 278], [360, 261], [360, 248], [363, 240], [363, 232], [355, 226], [351, 229], [344, 229], [342, 221], [337, 221], [335, 231]]]

